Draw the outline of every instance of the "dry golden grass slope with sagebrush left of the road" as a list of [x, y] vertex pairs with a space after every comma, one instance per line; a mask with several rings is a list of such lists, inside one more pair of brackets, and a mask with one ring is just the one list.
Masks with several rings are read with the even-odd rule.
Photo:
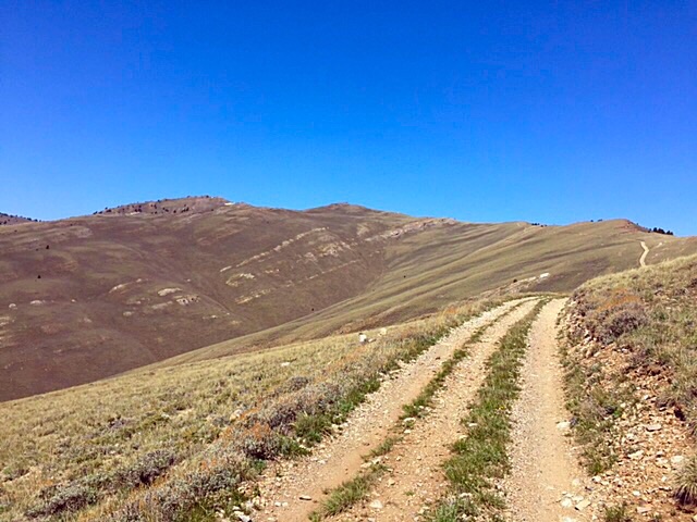
[[398, 360], [484, 307], [365, 345], [334, 336], [2, 403], [0, 519], [208, 520], [260, 460], [302, 451]]

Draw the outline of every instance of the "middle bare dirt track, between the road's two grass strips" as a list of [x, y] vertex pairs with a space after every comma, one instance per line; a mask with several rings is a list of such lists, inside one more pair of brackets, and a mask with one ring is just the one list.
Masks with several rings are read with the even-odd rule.
[[331, 520], [420, 520], [419, 515], [445, 495], [449, 483], [442, 463], [450, 456], [451, 446], [466, 431], [461, 421], [487, 374], [485, 362], [497, 341], [533, 306], [534, 301], [524, 304], [485, 332], [481, 340], [469, 349], [470, 355], [445, 380], [431, 411], [417, 420], [413, 428], [405, 430], [403, 440], [383, 458], [389, 471], [369, 498]]

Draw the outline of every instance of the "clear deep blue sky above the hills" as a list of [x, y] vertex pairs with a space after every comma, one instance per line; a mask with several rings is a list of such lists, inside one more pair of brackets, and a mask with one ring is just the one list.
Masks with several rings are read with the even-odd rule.
[[697, 234], [696, 1], [0, 3], [0, 211], [210, 194]]

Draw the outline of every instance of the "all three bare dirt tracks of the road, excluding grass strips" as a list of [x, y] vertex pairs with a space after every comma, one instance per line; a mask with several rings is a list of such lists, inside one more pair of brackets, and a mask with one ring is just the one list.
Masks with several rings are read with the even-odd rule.
[[[517, 301], [521, 302], [521, 301]], [[517, 303], [516, 302], [516, 303]], [[352, 414], [344, 430], [309, 457], [279, 462], [259, 484], [261, 511], [254, 520], [306, 521], [327, 492], [356, 476], [364, 456], [383, 442], [395, 426], [401, 440], [383, 457], [387, 472], [368, 496], [329, 520], [413, 521], [448, 492], [442, 463], [450, 447], [466, 432], [461, 420], [486, 376], [485, 362], [497, 341], [534, 307], [506, 303], [463, 324], [447, 338], [402, 369]], [[506, 494], [508, 520], [514, 522], [586, 521], [583, 472], [567, 434], [562, 371], [558, 359], [557, 318], [564, 300], [549, 302], [533, 324], [523, 369], [521, 398], [514, 407], [511, 474], [501, 483]], [[427, 415], [404, 430], [402, 406], [411, 402], [443, 361], [486, 327], [468, 347], [435, 396]]]

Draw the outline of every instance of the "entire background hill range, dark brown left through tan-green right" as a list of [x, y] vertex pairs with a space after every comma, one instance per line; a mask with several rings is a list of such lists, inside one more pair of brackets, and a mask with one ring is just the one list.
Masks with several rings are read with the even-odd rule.
[[640, 240], [649, 263], [697, 251], [626, 221], [467, 224], [220, 198], [0, 228], [0, 400], [398, 322], [514, 279], [571, 290], [637, 265]]

